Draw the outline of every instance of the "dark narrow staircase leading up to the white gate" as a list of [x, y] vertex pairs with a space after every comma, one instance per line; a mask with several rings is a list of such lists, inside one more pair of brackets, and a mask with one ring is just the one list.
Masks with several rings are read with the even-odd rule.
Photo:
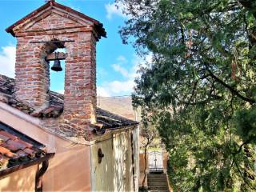
[[149, 192], [169, 192], [166, 174], [147, 174], [147, 185]]

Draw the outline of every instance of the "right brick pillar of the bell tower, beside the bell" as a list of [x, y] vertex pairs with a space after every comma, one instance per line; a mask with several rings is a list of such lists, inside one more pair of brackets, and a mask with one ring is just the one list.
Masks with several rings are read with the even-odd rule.
[[76, 39], [66, 42], [63, 128], [82, 133], [96, 121], [96, 41], [92, 34], [78, 34]]

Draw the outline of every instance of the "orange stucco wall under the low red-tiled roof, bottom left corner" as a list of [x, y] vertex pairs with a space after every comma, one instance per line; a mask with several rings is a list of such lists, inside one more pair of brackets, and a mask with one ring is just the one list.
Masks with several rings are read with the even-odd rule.
[[30, 166], [0, 178], [0, 191], [34, 191], [38, 166]]

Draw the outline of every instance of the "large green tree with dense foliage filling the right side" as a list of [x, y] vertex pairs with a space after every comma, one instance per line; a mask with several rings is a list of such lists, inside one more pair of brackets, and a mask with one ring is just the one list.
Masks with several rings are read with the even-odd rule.
[[134, 106], [158, 128], [175, 191], [255, 191], [256, 1], [117, 0], [153, 54]]

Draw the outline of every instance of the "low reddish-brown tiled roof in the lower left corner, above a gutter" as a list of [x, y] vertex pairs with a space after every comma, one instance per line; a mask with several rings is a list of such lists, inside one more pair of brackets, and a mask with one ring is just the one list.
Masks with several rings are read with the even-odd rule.
[[0, 172], [44, 157], [45, 146], [0, 122]]

